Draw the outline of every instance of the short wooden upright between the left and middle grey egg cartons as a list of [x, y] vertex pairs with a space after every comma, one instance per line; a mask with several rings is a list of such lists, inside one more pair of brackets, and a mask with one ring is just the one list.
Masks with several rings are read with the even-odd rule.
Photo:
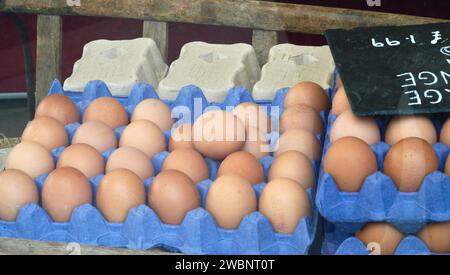
[[167, 22], [144, 21], [143, 37], [155, 40], [163, 60], [167, 62], [169, 49], [169, 24]]

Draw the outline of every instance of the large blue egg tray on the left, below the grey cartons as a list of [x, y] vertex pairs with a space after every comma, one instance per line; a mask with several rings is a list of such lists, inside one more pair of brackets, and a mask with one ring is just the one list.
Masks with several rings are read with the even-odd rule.
[[[283, 102], [288, 89], [281, 89], [277, 92], [273, 102], [257, 102], [265, 105], [271, 110], [273, 106], [283, 109]], [[113, 97], [106, 85], [101, 81], [88, 83], [83, 93], [65, 92], [61, 84], [55, 81], [49, 94], [64, 94], [71, 98], [76, 104], [80, 113], [83, 114], [87, 106], [99, 97]], [[131, 115], [134, 108], [144, 99], [158, 98], [154, 89], [146, 84], [137, 84], [127, 98], [114, 97], [117, 99]], [[216, 106], [224, 109], [226, 106], [237, 106], [242, 102], [253, 102], [250, 93], [244, 88], [230, 89], [227, 98], [223, 103], [209, 103], [201, 89], [195, 86], [187, 86], [180, 90], [175, 101], [165, 101], [173, 110], [176, 106], [186, 106], [193, 110], [194, 99], [200, 100], [203, 110], [209, 106]], [[197, 102], [198, 104], [198, 102]], [[193, 122], [197, 114], [193, 117], [182, 117], [177, 123]], [[321, 117], [326, 120], [326, 113], [321, 113]], [[79, 123], [66, 125], [66, 131], [71, 141]], [[125, 127], [115, 129], [116, 137], [119, 140]], [[170, 138], [170, 131], [165, 133], [166, 140]], [[269, 134], [271, 144], [275, 144], [279, 135], [276, 132]], [[324, 136], [317, 138], [323, 144]], [[55, 163], [59, 159], [65, 148], [52, 150]], [[105, 161], [114, 152], [114, 149], [103, 152]], [[152, 158], [155, 175], [161, 170], [162, 164], [168, 152], [161, 152]], [[126, 221], [122, 224], [107, 222], [101, 213], [95, 208], [95, 193], [103, 175], [90, 179], [94, 190], [94, 205], [82, 205], [74, 210], [71, 220], [68, 223], [53, 222], [49, 215], [39, 205], [30, 204], [23, 207], [17, 217], [16, 222], [0, 221], [0, 236], [10, 238], [23, 238], [41, 241], [57, 242], [78, 242], [87, 245], [99, 245], [109, 247], [125, 247], [129, 249], [147, 250], [151, 248], [164, 248], [173, 252], [183, 252], [187, 254], [307, 254], [312, 244], [318, 223], [318, 211], [314, 207], [314, 191], [307, 190], [311, 201], [312, 216], [303, 218], [293, 234], [279, 234], [273, 231], [272, 225], [261, 213], [254, 212], [246, 216], [238, 229], [225, 230], [217, 226], [214, 218], [204, 209], [206, 194], [215, 179], [217, 169], [220, 165], [218, 161], [205, 159], [209, 170], [210, 180], [197, 184], [202, 198], [202, 207], [190, 211], [181, 225], [163, 224], [152, 209], [146, 205], [138, 206], [130, 210]], [[264, 168], [265, 178], [270, 169], [273, 157], [268, 156], [260, 159]], [[319, 162], [315, 161], [314, 169], [316, 175], [319, 170]], [[39, 192], [48, 175], [42, 175], [35, 179]], [[153, 181], [153, 177], [144, 181], [146, 190]], [[265, 183], [254, 186], [257, 198], [265, 187]]]

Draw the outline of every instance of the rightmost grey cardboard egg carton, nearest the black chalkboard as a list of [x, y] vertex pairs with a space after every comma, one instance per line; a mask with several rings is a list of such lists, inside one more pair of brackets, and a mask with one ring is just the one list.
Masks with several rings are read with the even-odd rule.
[[334, 61], [328, 46], [312, 47], [280, 44], [272, 47], [253, 87], [256, 100], [273, 98], [276, 91], [301, 81], [312, 81], [324, 89], [332, 88]]

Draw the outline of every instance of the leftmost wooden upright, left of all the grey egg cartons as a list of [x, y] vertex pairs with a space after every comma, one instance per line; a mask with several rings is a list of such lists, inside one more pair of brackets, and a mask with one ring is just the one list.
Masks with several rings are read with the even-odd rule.
[[62, 18], [38, 15], [36, 104], [47, 95], [53, 80], [61, 79]]

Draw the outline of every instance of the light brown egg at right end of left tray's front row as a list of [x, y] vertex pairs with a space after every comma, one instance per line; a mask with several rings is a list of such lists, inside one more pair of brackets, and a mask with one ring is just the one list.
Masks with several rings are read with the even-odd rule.
[[303, 217], [311, 216], [311, 202], [297, 182], [279, 178], [263, 189], [259, 211], [269, 219], [275, 232], [292, 234]]

